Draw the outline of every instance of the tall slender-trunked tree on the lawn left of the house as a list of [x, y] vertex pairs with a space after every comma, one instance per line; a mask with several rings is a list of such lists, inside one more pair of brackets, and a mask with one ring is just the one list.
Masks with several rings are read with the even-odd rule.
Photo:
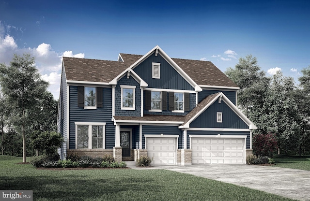
[[26, 135], [30, 132], [31, 110], [42, 100], [48, 83], [42, 80], [34, 66], [34, 57], [24, 54], [23, 57], [14, 55], [10, 66], [0, 64], [0, 84], [12, 110], [11, 124], [22, 135], [23, 162], [26, 162]]

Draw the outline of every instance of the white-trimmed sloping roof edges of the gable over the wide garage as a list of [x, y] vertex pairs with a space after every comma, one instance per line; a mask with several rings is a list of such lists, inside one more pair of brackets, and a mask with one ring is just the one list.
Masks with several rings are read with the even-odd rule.
[[229, 108], [240, 117], [240, 119], [248, 125], [249, 129], [257, 129], [255, 125], [230, 101], [222, 92], [212, 94], [202, 100], [197, 107], [190, 111], [186, 115], [185, 122], [179, 127], [180, 129], [189, 128], [190, 124], [202, 115], [202, 113], [207, 110], [215, 101], [224, 101]]

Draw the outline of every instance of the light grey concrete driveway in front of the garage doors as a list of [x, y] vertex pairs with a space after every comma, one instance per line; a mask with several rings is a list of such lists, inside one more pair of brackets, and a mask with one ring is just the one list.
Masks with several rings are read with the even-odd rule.
[[287, 198], [310, 201], [310, 171], [257, 165], [155, 166], [151, 169], [193, 174]]

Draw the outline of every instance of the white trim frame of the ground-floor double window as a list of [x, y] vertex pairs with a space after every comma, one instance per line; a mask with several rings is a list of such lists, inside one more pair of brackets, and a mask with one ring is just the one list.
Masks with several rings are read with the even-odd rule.
[[[102, 148], [98, 149], [105, 149], [106, 148], [106, 123], [105, 122], [74, 122], [76, 125], [76, 149], [78, 149], [78, 126], [88, 126], [88, 149], [93, 149], [93, 126], [103, 126], [103, 142]], [[91, 136], [91, 137], [90, 137]], [[87, 149], [87, 148], [84, 148]]]

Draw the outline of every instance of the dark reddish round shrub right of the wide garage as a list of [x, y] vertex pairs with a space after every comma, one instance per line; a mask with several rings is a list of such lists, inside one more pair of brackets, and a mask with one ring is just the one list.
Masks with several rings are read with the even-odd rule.
[[267, 156], [272, 158], [278, 149], [275, 134], [256, 134], [253, 136], [253, 153], [257, 156]]

